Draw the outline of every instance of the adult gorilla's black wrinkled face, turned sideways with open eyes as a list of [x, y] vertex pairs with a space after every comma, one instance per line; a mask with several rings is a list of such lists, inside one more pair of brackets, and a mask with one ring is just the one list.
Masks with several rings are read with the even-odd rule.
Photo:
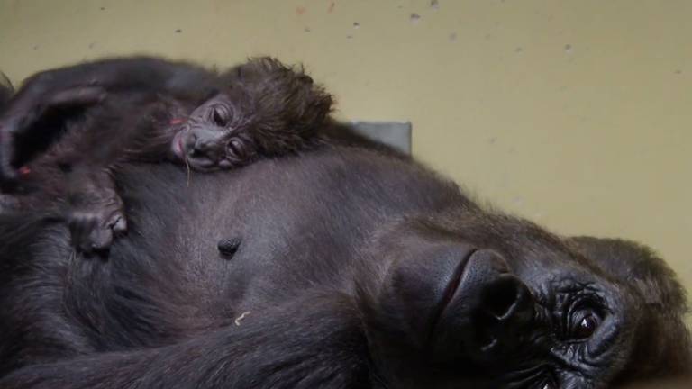
[[612, 383], [634, 347], [638, 291], [529, 223], [483, 224], [409, 221], [379, 236], [378, 285], [360, 285], [360, 295], [383, 387]]

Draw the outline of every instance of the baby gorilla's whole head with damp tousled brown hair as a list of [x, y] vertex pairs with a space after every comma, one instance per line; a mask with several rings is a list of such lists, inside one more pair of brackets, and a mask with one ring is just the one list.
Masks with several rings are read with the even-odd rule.
[[200, 171], [238, 167], [304, 149], [329, 120], [332, 96], [302, 69], [251, 59], [222, 76], [223, 91], [176, 133], [175, 158]]

